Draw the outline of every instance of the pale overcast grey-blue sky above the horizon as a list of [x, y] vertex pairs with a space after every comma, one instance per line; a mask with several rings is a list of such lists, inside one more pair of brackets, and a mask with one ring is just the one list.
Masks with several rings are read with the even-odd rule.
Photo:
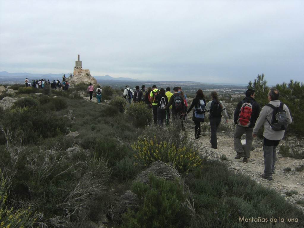
[[304, 1], [1, 0], [0, 71], [303, 82]]

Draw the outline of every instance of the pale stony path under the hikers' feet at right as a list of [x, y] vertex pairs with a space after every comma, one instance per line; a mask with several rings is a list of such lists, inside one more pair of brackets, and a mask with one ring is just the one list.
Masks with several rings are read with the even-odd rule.
[[[254, 138], [248, 163], [243, 163], [242, 159], [234, 159], [236, 152], [233, 146], [233, 126], [230, 123], [226, 124], [222, 120], [221, 124], [226, 124], [226, 131], [218, 132], [218, 149], [211, 148], [210, 132], [206, 131], [202, 134], [199, 140], [194, 138], [194, 123], [191, 120], [187, 121], [186, 128], [189, 132], [189, 136], [197, 143], [200, 148], [200, 153], [210, 159], [218, 159], [228, 165], [228, 168], [234, 173], [241, 173], [248, 175], [251, 179], [258, 184], [275, 189], [282, 194], [286, 200], [295, 204], [301, 208], [304, 212], [304, 171], [296, 171], [296, 168], [304, 165], [304, 159], [298, 160], [289, 157], [282, 157], [280, 151], [277, 150], [276, 170], [273, 174], [273, 180], [268, 181], [261, 177], [264, 171], [264, 157], [263, 157], [263, 143], [261, 139]], [[209, 123], [204, 123], [208, 125]], [[245, 140], [242, 140], [244, 142]], [[280, 142], [280, 145], [296, 144], [299, 148], [303, 148], [303, 140], [297, 138], [285, 136]], [[303, 149], [302, 149], [303, 150]], [[225, 155], [227, 160], [221, 159]], [[289, 171], [290, 170], [290, 171]], [[298, 202], [298, 203], [297, 203]], [[299, 203], [302, 202], [302, 203]]]

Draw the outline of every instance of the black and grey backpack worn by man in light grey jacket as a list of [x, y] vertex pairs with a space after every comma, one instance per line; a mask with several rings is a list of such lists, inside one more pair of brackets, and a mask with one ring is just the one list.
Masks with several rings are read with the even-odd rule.
[[271, 129], [274, 131], [285, 130], [288, 126], [287, 113], [283, 109], [283, 105], [284, 105], [283, 102], [280, 102], [280, 105], [278, 107], [275, 107], [274, 105], [269, 104], [269, 103], [266, 104], [266, 106], [273, 108], [271, 123], [269, 122], [269, 120], [267, 118], [266, 119], [267, 119]]

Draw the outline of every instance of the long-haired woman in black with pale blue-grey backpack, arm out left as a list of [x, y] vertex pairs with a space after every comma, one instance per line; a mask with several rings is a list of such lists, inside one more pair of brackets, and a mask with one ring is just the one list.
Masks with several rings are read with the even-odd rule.
[[196, 91], [196, 97], [193, 99], [192, 104], [187, 114], [194, 108], [192, 121], [194, 121], [195, 126], [195, 139], [199, 139], [201, 137], [201, 122], [205, 121], [205, 107], [206, 101], [204, 93], [201, 89]]

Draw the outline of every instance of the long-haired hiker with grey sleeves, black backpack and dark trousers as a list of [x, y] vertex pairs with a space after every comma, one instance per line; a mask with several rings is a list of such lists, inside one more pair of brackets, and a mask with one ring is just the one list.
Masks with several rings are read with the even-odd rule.
[[225, 106], [223, 105], [222, 101], [219, 101], [217, 97], [217, 92], [213, 91], [211, 93], [211, 101], [205, 107], [205, 110], [209, 112], [209, 122], [210, 122], [210, 130], [211, 130], [211, 148], [217, 149], [217, 138], [216, 138], [216, 131], [221, 123], [222, 114], [226, 119], [226, 123], [228, 123], [228, 114], [226, 111]]

